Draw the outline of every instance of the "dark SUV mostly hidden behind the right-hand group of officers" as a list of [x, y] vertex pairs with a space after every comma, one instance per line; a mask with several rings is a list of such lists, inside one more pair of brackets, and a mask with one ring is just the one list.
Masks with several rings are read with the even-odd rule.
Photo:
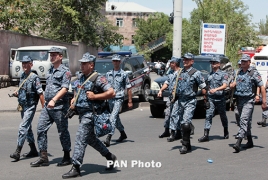
[[[212, 71], [210, 60], [212, 59], [212, 56], [195, 56], [194, 57], [194, 65], [193, 67], [197, 70], [201, 71], [202, 76], [204, 79], [207, 79], [208, 74]], [[222, 60], [225, 60], [224, 63], [229, 62], [229, 59], [226, 57], [222, 57]], [[226, 61], [228, 60], [228, 61]], [[183, 67], [183, 63], [181, 61], [180, 67]], [[163, 91], [162, 97], [157, 97], [157, 94], [164, 84], [164, 82], [167, 80], [167, 75], [170, 73], [171, 69], [167, 69], [164, 74], [161, 74], [162, 76], [157, 78], [154, 82], [152, 82], [151, 90], [148, 92], [149, 96], [149, 103], [150, 103], [150, 111], [153, 117], [163, 117], [164, 110], [166, 108], [166, 101], [169, 98], [170, 92], [168, 89]], [[231, 78], [231, 77], [229, 77]], [[229, 110], [230, 108], [230, 89], [229, 87], [225, 89], [225, 96], [226, 96], [226, 110]], [[201, 89], [198, 89], [197, 92], [197, 105], [196, 105], [196, 111], [195, 113], [199, 114], [200, 116], [205, 115], [204, 110], [204, 98], [201, 93]]]

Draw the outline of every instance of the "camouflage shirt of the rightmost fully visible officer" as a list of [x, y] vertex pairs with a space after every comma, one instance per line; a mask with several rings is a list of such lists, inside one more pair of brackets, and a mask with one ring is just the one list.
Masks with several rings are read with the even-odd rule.
[[255, 86], [255, 88], [257, 88], [257, 86], [263, 86], [261, 75], [256, 69], [253, 69], [254, 73], [252, 76], [249, 75], [251, 69], [250, 67], [246, 72], [239, 69], [236, 77], [235, 95], [253, 98], [255, 94], [252, 92], [252, 87]]

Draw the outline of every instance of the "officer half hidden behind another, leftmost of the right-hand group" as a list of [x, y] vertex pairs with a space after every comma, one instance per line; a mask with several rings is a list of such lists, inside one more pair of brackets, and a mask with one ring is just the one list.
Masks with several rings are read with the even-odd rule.
[[[164, 82], [163, 86], [161, 87], [161, 89], [157, 94], [158, 97], [162, 97], [162, 92], [167, 88], [169, 92], [174, 91], [174, 88], [176, 87], [177, 75], [180, 70], [180, 61], [181, 59], [178, 57], [171, 58], [170, 68], [172, 69], [172, 74], [168, 75], [168, 79]], [[167, 108], [165, 109], [165, 122], [164, 122], [165, 131], [161, 135], [159, 135], [159, 138], [168, 137], [167, 138], [168, 142], [181, 139], [180, 124], [177, 119], [178, 99], [176, 99], [174, 102], [171, 102], [172, 98], [173, 98], [172, 94], [170, 94], [170, 97], [166, 103]], [[171, 129], [170, 133], [169, 129]]]

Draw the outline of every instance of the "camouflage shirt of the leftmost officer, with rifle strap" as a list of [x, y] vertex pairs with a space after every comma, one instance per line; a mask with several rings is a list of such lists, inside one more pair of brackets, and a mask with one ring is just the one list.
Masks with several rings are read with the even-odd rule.
[[[25, 74], [25, 72], [22, 73], [20, 77], [20, 84], [28, 77], [29, 74]], [[18, 102], [20, 105], [36, 105], [38, 103], [39, 94], [41, 93], [43, 93], [43, 89], [40, 79], [35, 73], [32, 73], [19, 89]]]

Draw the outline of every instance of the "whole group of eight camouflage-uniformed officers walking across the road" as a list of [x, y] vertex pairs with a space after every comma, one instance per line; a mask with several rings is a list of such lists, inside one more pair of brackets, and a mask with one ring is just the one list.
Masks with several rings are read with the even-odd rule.
[[[47, 132], [52, 124], [57, 125], [60, 142], [64, 151], [62, 160], [57, 166], [66, 166], [72, 164], [69, 172], [62, 175], [62, 178], [72, 178], [81, 176], [80, 166], [83, 163], [85, 149], [89, 144], [96, 149], [107, 160], [115, 161], [116, 156], [112, 154], [107, 147], [110, 146], [110, 140], [114, 134], [115, 128], [120, 131], [118, 142], [127, 138], [124, 126], [119, 118], [119, 109], [124, 98], [124, 89], [128, 90], [128, 107], [132, 107], [131, 85], [127, 74], [120, 69], [120, 56], [114, 55], [112, 62], [114, 69], [109, 71], [105, 76], [98, 74], [95, 81], [90, 81], [94, 73], [95, 56], [85, 53], [81, 63], [81, 74], [74, 83], [75, 93], [71, 100], [71, 109], [76, 109], [79, 114], [79, 127], [76, 133], [76, 140], [72, 158], [71, 138], [68, 131], [68, 117], [66, 116], [69, 107], [67, 91], [71, 80], [69, 68], [62, 64], [62, 49], [53, 47], [49, 51], [52, 67], [46, 76], [45, 95], [43, 94], [40, 79], [36, 74], [31, 72], [32, 59], [24, 56], [21, 60], [24, 73], [21, 75], [20, 86], [14, 96], [18, 97], [18, 102], [22, 108], [22, 122], [19, 127], [18, 142], [16, 151], [10, 155], [11, 158], [18, 161], [20, 159], [21, 149], [24, 141], [27, 139], [30, 145], [30, 152], [25, 157], [37, 157], [38, 151], [34, 143], [34, 135], [31, 128], [31, 122], [34, 117], [38, 99], [42, 105], [41, 115], [37, 126], [37, 143], [40, 151], [40, 157], [32, 162], [32, 167], [48, 166], [49, 160], [47, 155]], [[237, 77], [229, 85], [228, 74], [220, 70], [220, 58], [215, 57], [211, 60], [212, 72], [205, 82], [201, 72], [193, 68], [194, 56], [191, 53], [183, 57], [183, 68], [179, 67], [180, 58], [172, 57], [170, 66], [173, 73], [168, 76], [158, 96], [162, 96], [162, 91], [169, 88], [171, 97], [169, 108], [166, 110], [167, 118], [165, 122], [165, 132], [159, 137], [168, 137], [168, 141], [182, 138], [181, 154], [191, 151], [190, 135], [193, 134], [192, 118], [196, 107], [196, 91], [199, 87], [205, 99], [206, 121], [204, 127], [204, 136], [198, 139], [199, 142], [209, 141], [209, 130], [212, 125], [212, 117], [215, 109], [218, 109], [222, 125], [224, 127], [224, 139], [229, 138], [228, 119], [226, 116], [224, 89], [227, 86], [235, 88], [237, 99], [237, 113], [239, 116], [239, 132], [237, 142], [233, 146], [236, 152], [240, 151], [242, 139], [246, 136], [248, 143], [245, 148], [253, 147], [251, 137], [251, 120], [254, 109], [256, 92], [262, 94], [262, 108], [266, 110], [266, 92], [258, 71], [250, 67], [250, 58], [243, 56], [241, 68], [237, 72]], [[254, 91], [259, 87], [257, 91]], [[111, 123], [113, 130], [108, 134], [104, 143], [102, 143], [94, 132], [93, 112], [103, 106], [104, 100], [109, 100], [111, 110]], [[169, 113], [170, 112], [170, 113]], [[264, 111], [266, 112], [266, 111]], [[171, 129], [171, 133], [169, 133]], [[113, 169], [113, 164], [107, 167], [107, 170]]]

